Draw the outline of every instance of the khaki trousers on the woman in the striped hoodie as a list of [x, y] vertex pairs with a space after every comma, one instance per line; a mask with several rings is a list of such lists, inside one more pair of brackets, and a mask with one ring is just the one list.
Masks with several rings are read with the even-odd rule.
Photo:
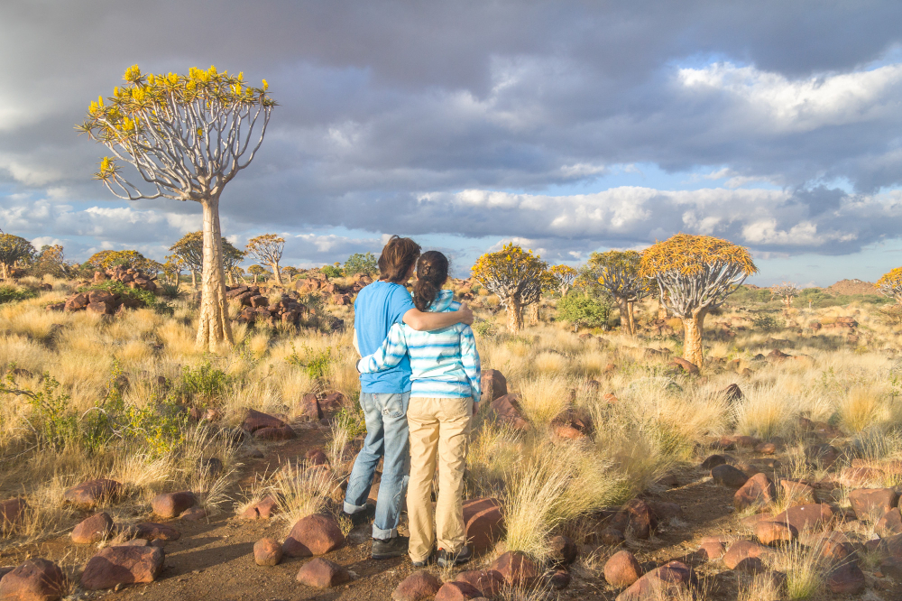
[[[473, 399], [410, 397], [410, 559], [423, 561], [438, 549], [456, 553], [464, 548], [463, 494], [466, 434]], [[432, 481], [438, 463], [438, 499], [432, 509]], [[437, 541], [436, 541], [437, 539]]]

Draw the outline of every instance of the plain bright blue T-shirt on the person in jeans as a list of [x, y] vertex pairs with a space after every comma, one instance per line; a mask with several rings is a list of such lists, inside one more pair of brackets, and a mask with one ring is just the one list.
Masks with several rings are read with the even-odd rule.
[[[391, 282], [373, 282], [357, 293], [354, 301], [354, 329], [357, 346], [363, 356], [373, 355], [382, 347], [389, 329], [404, 322], [404, 314], [415, 309], [410, 292]], [[376, 374], [360, 375], [362, 393], [410, 392], [410, 358], [405, 356], [398, 365]]]

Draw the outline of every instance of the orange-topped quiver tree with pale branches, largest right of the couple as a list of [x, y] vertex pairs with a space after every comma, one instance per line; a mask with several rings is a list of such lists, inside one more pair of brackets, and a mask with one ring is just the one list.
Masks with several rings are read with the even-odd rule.
[[640, 274], [655, 278], [661, 304], [683, 320], [683, 358], [701, 367], [708, 311], [723, 304], [758, 267], [748, 249], [713, 236], [677, 234], [646, 248]]

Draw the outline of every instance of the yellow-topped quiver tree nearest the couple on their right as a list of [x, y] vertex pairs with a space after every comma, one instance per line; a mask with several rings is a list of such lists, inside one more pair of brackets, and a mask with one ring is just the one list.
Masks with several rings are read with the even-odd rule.
[[523, 306], [538, 301], [547, 267], [531, 250], [524, 251], [511, 243], [497, 253], [479, 257], [472, 273], [485, 290], [498, 295], [507, 310], [508, 329], [519, 332], [523, 327]]

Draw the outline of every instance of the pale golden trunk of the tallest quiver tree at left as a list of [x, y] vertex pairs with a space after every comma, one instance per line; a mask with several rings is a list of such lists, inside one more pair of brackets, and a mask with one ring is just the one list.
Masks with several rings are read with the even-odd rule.
[[219, 198], [205, 199], [200, 204], [204, 208], [204, 266], [201, 274], [198, 346], [216, 352], [223, 343], [233, 344], [232, 327], [226, 307]]

